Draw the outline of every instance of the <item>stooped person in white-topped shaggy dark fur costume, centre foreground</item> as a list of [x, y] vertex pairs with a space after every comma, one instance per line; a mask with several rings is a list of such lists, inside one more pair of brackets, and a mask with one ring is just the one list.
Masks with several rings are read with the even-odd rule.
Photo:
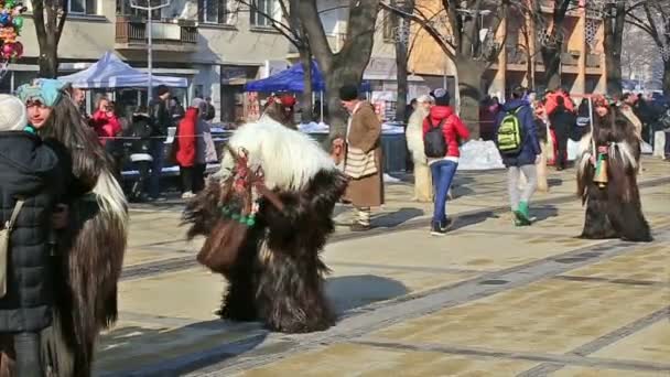
[[223, 319], [284, 333], [333, 325], [320, 252], [346, 185], [315, 141], [271, 117], [233, 134], [221, 170], [184, 212], [188, 238], [206, 237], [198, 261], [228, 281]]

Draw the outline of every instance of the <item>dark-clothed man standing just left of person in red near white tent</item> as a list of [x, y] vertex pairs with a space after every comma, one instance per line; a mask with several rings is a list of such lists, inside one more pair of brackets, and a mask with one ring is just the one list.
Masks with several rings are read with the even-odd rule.
[[150, 104], [151, 123], [153, 132], [151, 134], [151, 175], [149, 177], [149, 200], [162, 200], [161, 175], [163, 172], [163, 160], [165, 155], [165, 139], [168, 130], [173, 125], [170, 115], [170, 89], [160, 85], [158, 87], [158, 98]]

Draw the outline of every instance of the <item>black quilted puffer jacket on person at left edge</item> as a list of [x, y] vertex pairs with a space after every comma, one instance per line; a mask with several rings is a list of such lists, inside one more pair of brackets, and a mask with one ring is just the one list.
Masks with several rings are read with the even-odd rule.
[[10, 219], [25, 203], [10, 236], [7, 294], [0, 299], [0, 332], [36, 332], [51, 324], [53, 284], [48, 235], [63, 181], [56, 153], [39, 137], [0, 132], [0, 216]]

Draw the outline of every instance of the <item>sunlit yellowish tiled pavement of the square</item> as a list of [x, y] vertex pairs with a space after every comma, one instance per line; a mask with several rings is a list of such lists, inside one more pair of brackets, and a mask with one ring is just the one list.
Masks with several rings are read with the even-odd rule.
[[[657, 240], [574, 238], [574, 172], [534, 197], [538, 223], [510, 226], [505, 174], [458, 173], [455, 229], [426, 233], [429, 205], [387, 186], [370, 234], [326, 247], [341, 313], [322, 333], [226, 323], [223, 280], [194, 262], [180, 203], [132, 211], [120, 321], [99, 376], [670, 376], [670, 164], [645, 161], [642, 201]], [[345, 224], [347, 208], [338, 208]]]

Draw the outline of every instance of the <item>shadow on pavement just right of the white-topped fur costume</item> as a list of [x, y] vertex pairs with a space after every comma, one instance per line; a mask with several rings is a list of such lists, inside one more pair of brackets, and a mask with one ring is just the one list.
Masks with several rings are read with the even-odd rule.
[[395, 299], [409, 293], [393, 279], [372, 274], [356, 274], [326, 279], [326, 295], [337, 315], [367, 304]]

